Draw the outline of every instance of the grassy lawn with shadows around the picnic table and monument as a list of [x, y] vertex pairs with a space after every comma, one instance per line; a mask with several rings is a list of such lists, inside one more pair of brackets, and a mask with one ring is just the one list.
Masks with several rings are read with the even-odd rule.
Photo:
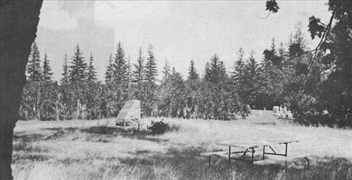
[[[166, 134], [146, 131], [151, 120], [172, 127]], [[304, 127], [278, 120], [271, 111], [252, 110], [246, 120], [145, 118], [139, 131], [119, 129], [113, 120], [20, 121], [13, 141], [15, 179], [352, 179], [352, 130]], [[289, 155], [304, 160], [253, 166], [199, 153], [226, 150], [218, 141], [296, 139]], [[275, 146], [284, 150], [284, 146]], [[262, 152], [257, 149], [256, 158]]]

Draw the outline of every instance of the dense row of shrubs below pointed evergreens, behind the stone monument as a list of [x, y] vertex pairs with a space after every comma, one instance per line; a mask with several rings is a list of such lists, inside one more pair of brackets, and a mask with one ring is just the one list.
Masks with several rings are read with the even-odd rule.
[[[139, 99], [143, 116], [235, 120], [249, 109], [231, 84], [167, 82], [150, 90], [131, 84], [100, 82], [29, 82], [20, 115], [26, 120], [72, 120], [117, 117], [127, 100]], [[178, 83], [178, 84], [177, 84]], [[150, 88], [148, 90], [148, 88]], [[154, 87], [153, 87], [154, 88]], [[147, 93], [149, 92], [149, 93]]]

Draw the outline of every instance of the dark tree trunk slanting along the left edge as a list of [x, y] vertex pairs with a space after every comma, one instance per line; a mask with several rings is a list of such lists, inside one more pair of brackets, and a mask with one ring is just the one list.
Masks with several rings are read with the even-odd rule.
[[1, 1], [0, 179], [11, 175], [13, 128], [18, 120], [25, 67], [36, 37], [42, 0]]

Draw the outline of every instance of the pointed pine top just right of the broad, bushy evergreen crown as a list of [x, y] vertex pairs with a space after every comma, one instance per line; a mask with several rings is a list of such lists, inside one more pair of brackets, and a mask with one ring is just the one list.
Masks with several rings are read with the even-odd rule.
[[237, 51], [237, 60], [234, 62], [232, 79], [234, 82], [240, 82], [244, 79], [244, 71], [245, 71], [245, 63], [244, 63], [244, 51], [242, 48]]

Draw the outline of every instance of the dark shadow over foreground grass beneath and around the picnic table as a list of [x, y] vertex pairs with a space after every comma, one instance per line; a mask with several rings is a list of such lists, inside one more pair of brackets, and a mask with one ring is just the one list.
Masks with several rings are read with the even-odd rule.
[[[132, 153], [133, 158], [119, 158], [127, 167], [139, 169], [138, 179], [352, 179], [352, 164], [344, 158], [317, 158], [310, 169], [304, 160], [258, 166], [250, 162], [199, 154], [203, 148], [169, 148], [166, 153]], [[170, 174], [175, 174], [171, 176]]]

